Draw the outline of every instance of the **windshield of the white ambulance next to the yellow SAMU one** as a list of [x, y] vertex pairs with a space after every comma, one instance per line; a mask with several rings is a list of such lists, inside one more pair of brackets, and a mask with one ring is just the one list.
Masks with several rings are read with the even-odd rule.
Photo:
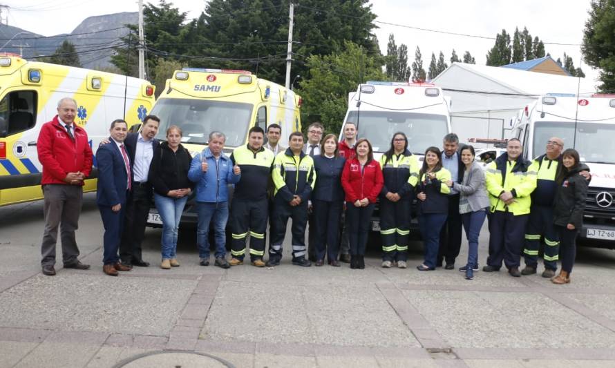
[[[358, 119], [357, 119], [358, 115]], [[347, 122], [358, 122], [359, 138], [367, 138], [375, 152], [386, 152], [396, 132], [408, 137], [408, 150], [423, 155], [430, 146], [442, 144], [448, 133], [446, 116], [398, 111], [350, 111]]]

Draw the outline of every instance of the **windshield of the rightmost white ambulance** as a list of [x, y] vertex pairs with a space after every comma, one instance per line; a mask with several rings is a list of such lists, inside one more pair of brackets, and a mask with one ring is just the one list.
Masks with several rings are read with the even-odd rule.
[[536, 122], [534, 127], [533, 155], [545, 153], [551, 137], [564, 140], [564, 149], [574, 148], [583, 162], [615, 164], [615, 124], [578, 122], [576, 138], [574, 122]]

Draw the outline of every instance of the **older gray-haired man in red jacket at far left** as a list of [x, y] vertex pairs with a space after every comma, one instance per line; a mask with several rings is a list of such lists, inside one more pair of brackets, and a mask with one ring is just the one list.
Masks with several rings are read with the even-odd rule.
[[65, 269], [89, 269], [79, 262], [75, 230], [79, 222], [84, 180], [92, 169], [92, 148], [86, 131], [75, 124], [77, 101], [64, 97], [57, 115], [41, 127], [37, 141], [43, 165], [41, 185], [45, 197], [45, 231], [41, 244], [44, 275], [55, 275], [55, 244], [61, 223], [62, 260]]

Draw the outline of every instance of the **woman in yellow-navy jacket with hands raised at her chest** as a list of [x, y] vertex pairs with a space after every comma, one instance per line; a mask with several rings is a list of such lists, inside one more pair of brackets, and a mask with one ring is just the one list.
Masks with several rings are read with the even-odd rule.
[[442, 152], [437, 147], [427, 148], [417, 185], [419, 229], [424, 244], [424, 261], [417, 266], [419, 271], [435, 269], [440, 231], [448, 216], [448, 180], [451, 172], [442, 167]]

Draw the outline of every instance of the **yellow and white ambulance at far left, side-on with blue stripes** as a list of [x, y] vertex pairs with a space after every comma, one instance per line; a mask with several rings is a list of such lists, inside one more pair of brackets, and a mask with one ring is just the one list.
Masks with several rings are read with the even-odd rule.
[[[96, 151], [114, 119], [124, 118], [129, 126], [141, 122], [153, 105], [154, 86], [124, 75], [0, 54], [0, 206], [43, 197], [37, 138], [63, 97], [77, 101], [75, 123]], [[84, 191], [96, 190], [96, 176], [94, 168]]]

